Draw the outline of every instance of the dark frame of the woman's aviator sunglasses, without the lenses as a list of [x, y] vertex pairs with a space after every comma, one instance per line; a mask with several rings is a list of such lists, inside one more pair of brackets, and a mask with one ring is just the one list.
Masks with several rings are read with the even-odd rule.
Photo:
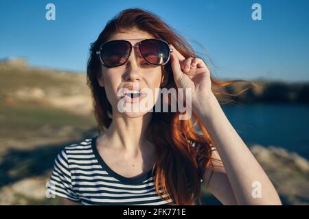
[[[128, 40], [139, 40], [139, 43], [138, 43], [137, 45], [133, 45], [133, 44], [131, 44], [131, 42], [129, 42]], [[166, 42], [165, 40], [157, 39], [157, 38], [140, 38], [140, 39], [110, 40], [110, 41], [104, 42], [104, 43], [100, 46], [99, 51], [96, 51], [96, 54], [99, 55], [100, 61], [101, 61], [102, 65], [103, 65], [104, 67], [106, 67], [106, 68], [115, 68], [115, 67], [119, 67], [119, 66], [122, 66], [122, 65], [126, 64], [126, 62], [128, 62], [128, 59], [129, 59], [129, 57], [130, 57], [130, 55], [131, 55], [131, 52], [132, 52], [132, 50], [133, 50], [133, 47], [139, 47], [139, 53], [141, 53], [140, 44], [141, 44], [142, 42], [144, 42], [145, 40], [159, 40], [159, 41], [164, 42], [165, 44], [167, 44], [167, 45], [168, 45], [168, 48], [170, 48], [170, 44], [168, 44], [168, 42]], [[102, 58], [101, 58], [101, 50], [102, 50], [102, 47], [104, 46], [104, 44], [106, 44], [106, 43], [108, 43], [108, 42], [113, 42], [113, 41], [124, 41], [124, 42], [129, 42], [129, 43], [130, 43], [130, 52], [129, 52], [128, 57], [127, 57], [127, 59], [126, 59], [126, 61], [125, 61], [124, 63], [119, 64], [119, 65], [117, 65], [117, 66], [108, 66], [108, 65], [104, 64], [104, 62], [102, 61]], [[152, 65], [152, 66], [164, 66], [165, 64], [168, 63], [168, 61], [170, 61], [170, 53], [172, 53], [172, 51], [173, 51], [173, 49], [170, 48], [170, 52], [168, 53], [168, 59], [167, 59], [163, 64], [152, 64], [152, 63], [150, 63], [150, 62], [148, 62], [148, 61], [146, 60], [146, 58], [144, 57], [143, 53], [141, 53], [141, 56], [143, 57], [143, 59], [144, 59], [148, 64], [150, 64], [150, 65]]]

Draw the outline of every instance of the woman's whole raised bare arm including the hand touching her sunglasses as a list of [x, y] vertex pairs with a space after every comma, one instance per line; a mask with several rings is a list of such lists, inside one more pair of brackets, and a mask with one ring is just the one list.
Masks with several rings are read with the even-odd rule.
[[[215, 171], [211, 190], [223, 203], [233, 203], [234, 199], [238, 205], [281, 205], [273, 184], [214, 96], [205, 62], [196, 57], [186, 59], [174, 46], [170, 47], [173, 49], [171, 62], [176, 86], [192, 91], [192, 110], [207, 128], [225, 168], [226, 174]], [[254, 192], [259, 196], [259, 189], [261, 196], [256, 197]]]

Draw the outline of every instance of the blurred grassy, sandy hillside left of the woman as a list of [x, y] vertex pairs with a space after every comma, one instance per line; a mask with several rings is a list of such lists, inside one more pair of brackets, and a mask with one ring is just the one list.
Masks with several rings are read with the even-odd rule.
[[0, 77], [0, 154], [79, 138], [95, 127], [86, 75], [3, 61]]

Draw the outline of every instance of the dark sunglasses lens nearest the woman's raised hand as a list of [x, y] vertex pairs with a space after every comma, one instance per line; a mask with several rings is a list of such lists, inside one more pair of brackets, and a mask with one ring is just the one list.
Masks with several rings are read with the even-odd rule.
[[165, 64], [170, 56], [170, 47], [161, 40], [149, 39], [141, 41], [139, 49], [144, 59], [155, 65]]

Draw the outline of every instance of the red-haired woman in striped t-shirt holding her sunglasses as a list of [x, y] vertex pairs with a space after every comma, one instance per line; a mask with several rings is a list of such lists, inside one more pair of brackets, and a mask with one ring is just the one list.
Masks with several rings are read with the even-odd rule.
[[[214, 86], [235, 81], [211, 77], [159, 17], [140, 9], [120, 12], [90, 53], [87, 79], [100, 134], [65, 146], [56, 157], [49, 191], [64, 204], [194, 205], [206, 186], [224, 205], [281, 205], [218, 103]], [[157, 88], [190, 90], [183, 99], [194, 118], [153, 110], [174, 104], [159, 99]], [[128, 110], [145, 96], [154, 100], [146, 110]]]

